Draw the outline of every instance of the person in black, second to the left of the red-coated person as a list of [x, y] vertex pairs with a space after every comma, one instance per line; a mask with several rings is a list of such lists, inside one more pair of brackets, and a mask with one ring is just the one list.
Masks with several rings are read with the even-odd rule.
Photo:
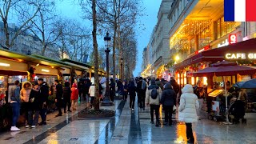
[[63, 94], [63, 90], [62, 90], [62, 84], [60, 84], [58, 82], [58, 80], [55, 80], [54, 82], [55, 84], [55, 90], [56, 90], [56, 98], [55, 98], [55, 105], [57, 106], [58, 108], [58, 114], [55, 116], [55, 117], [58, 117], [58, 116], [62, 116], [62, 94]]

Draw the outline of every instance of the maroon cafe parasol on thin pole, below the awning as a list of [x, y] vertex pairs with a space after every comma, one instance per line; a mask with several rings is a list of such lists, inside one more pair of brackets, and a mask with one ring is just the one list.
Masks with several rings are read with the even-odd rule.
[[[224, 86], [225, 86], [225, 93], [226, 93], [226, 77], [230, 75], [246, 75], [246, 74], [255, 74], [256, 67], [253, 66], [238, 66], [237, 62], [217, 62], [210, 67], [207, 67], [203, 70], [198, 70], [198, 72], [194, 73], [193, 75], [196, 77], [205, 77], [205, 76], [223, 76], [224, 79]], [[227, 95], [227, 93], [225, 94]], [[228, 120], [228, 107], [227, 107], [227, 97], [226, 97], [226, 124], [229, 124]]]

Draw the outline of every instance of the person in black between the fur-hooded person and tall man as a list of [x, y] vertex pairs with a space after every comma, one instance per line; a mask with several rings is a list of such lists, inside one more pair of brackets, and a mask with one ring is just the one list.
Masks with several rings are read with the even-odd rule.
[[[29, 126], [34, 128], [38, 126], [39, 110], [40, 110], [40, 99], [39, 99], [39, 86], [35, 84], [30, 92], [30, 109], [28, 111], [28, 122]], [[33, 118], [34, 115], [34, 118]]]

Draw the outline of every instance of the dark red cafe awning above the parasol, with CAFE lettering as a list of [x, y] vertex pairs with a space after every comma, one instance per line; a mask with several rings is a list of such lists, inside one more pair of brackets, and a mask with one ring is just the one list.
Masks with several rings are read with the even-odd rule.
[[225, 59], [226, 53], [256, 53], [256, 38], [238, 42], [229, 46], [223, 46], [221, 48], [203, 51], [202, 53], [196, 54], [191, 58], [186, 58], [184, 61], [179, 62], [174, 66], [174, 69], [179, 70], [198, 62], [222, 61]]

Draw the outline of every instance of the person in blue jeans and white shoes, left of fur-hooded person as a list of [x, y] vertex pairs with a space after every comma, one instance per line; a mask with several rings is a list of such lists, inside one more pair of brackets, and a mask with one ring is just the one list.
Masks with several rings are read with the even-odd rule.
[[10, 131], [18, 131], [18, 127], [16, 127], [16, 123], [18, 122], [19, 112], [20, 112], [20, 88], [19, 88], [19, 81], [16, 80], [14, 82], [14, 86], [9, 87], [9, 98], [8, 101], [10, 102], [10, 106], [12, 109], [13, 117], [12, 123], [10, 127]]

